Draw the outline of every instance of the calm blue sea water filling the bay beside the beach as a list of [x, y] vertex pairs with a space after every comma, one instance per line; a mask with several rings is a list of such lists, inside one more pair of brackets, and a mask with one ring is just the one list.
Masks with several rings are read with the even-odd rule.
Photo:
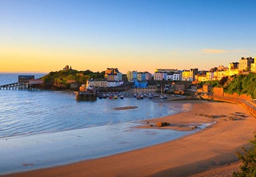
[[[0, 73], [0, 85], [18, 75]], [[116, 110], [123, 106], [137, 109]], [[97, 99], [76, 101], [74, 92], [0, 90], [0, 174], [65, 165], [175, 140], [182, 132], [136, 128], [148, 120], [188, 111], [191, 104], [161, 100]], [[209, 125], [203, 125], [205, 128]]]

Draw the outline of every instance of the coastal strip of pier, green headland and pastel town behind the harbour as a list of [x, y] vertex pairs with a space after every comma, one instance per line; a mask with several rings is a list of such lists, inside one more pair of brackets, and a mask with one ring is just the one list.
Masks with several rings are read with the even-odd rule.
[[[58, 75], [56, 76], [54, 73], [58, 73]], [[96, 96], [98, 98], [106, 98], [106, 96], [115, 98], [116, 94], [110, 96], [108, 92], [127, 91], [138, 94], [137, 98], [143, 94], [152, 98], [155, 93], [163, 94], [161, 98], [166, 98], [166, 94], [224, 96], [223, 85], [225, 82], [232, 81], [237, 75], [248, 75], [249, 73], [256, 73], [255, 58], [242, 57], [238, 62], [230, 62], [228, 66], [213, 67], [209, 71], [198, 68], [155, 69], [154, 73], [127, 71], [126, 74], [123, 74], [118, 68], [107, 68], [106, 71], [95, 74], [90, 70], [76, 71], [71, 66], [65, 66], [62, 70], [51, 72], [41, 79], [35, 79], [33, 75], [20, 75], [18, 83], [0, 86], [0, 89], [71, 89], [77, 91], [78, 96], [86, 95], [78, 100], [96, 100]], [[68, 79], [61, 74], [69, 74]], [[51, 77], [51, 75], [54, 76]], [[106, 95], [95, 94], [96, 92], [106, 92]], [[123, 98], [123, 95], [119, 94], [119, 97]], [[240, 98], [254, 99], [245, 94]]]

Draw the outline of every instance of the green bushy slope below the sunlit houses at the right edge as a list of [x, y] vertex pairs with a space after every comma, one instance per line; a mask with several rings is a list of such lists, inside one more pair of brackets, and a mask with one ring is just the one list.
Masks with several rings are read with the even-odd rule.
[[224, 88], [224, 92], [228, 94], [247, 94], [251, 98], [256, 98], [256, 73], [249, 73], [247, 75], [238, 75], [228, 83]]

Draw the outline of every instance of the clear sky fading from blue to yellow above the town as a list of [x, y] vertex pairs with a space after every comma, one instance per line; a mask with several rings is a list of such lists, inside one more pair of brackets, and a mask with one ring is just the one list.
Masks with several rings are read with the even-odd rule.
[[256, 56], [256, 1], [0, 0], [0, 72], [209, 70]]

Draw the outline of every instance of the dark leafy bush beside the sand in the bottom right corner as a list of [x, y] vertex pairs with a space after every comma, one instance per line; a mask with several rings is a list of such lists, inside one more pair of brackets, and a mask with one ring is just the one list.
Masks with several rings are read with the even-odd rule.
[[234, 176], [256, 176], [256, 134], [250, 142], [249, 149], [242, 147], [243, 153], [236, 152], [243, 165], [240, 166], [239, 172], [234, 172]]

